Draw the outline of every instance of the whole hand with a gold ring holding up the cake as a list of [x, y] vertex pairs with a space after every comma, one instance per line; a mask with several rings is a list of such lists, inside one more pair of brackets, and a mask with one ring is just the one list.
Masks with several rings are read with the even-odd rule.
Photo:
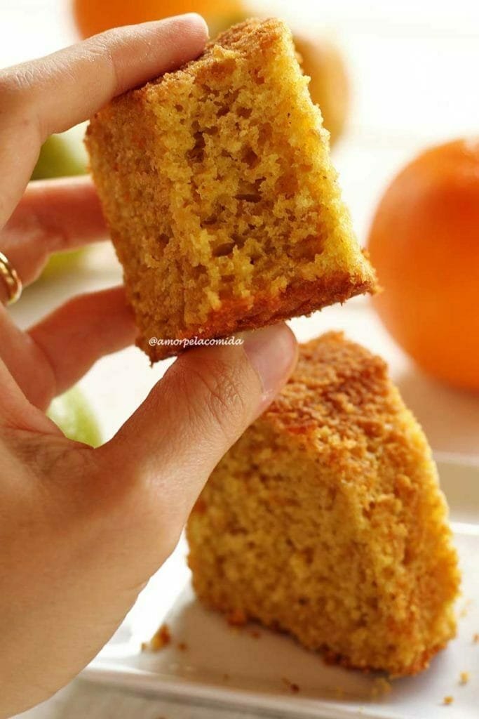
[[[50, 252], [106, 233], [89, 180], [25, 187], [42, 141], [198, 55], [200, 17], [125, 27], [0, 73], [0, 249], [28, 284]], [[0, 299], [6, 299], [0, 278]], [[122, 288], [27, 332], [0, 304], [0, 716], [45, 700], [118, 627], [174, 549], [211, 470], [287, 380], [284, 324], [178, 358], [98, 449], [45, 416], [52, 397], [135, 329]], [[121, 390], [119, 390], [121, 391]]]

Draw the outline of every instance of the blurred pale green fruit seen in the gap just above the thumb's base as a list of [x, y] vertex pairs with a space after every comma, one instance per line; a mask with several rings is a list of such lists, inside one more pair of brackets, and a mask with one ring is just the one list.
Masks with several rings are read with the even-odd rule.
[[103, 441], [95, 413], [78, 386], [55, 397], [47, 410], [47, 416], [69, 439], [93, 447]]

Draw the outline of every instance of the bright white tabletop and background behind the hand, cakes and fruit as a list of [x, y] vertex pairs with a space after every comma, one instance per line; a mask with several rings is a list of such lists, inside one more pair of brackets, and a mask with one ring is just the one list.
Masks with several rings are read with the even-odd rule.
[[[348, 57], [354, 87], [350, 127], [335, 148], [335, 163], [361, 242], [384, 184], [424, 145], [477, 134], [479, 122], [479, 4], [455, 0], [266, 0], [275, 14], [310, 28], [334, 29]], [[27, 60], [73, 42], [68, 1], [0, 0], [0, 67]], [[90, 265], [55, 283], [24, 293], [12, 314], [22, 326], [75, 292], [106, 287], [120, 279], [112, 252], [94, 251]], [[388, 359], [406, 402], [422, 422], [435, 450], [479, 455], [479, 395], [426, 377], [384, 331], [368, 303], [350, 301], [310, 319], [292, 322], [299, 339], [325, 329], [345, 329]], [[139, 404], [167, 363], [150, 369], [139, 350], [129, 348], [101, 359], [82, 380], [106, 437]], [[447, 710], [445, 710], [447, 711]], [[236, 719], [227, 710], [177, 705], [80, 680], [29, 719]], [[241, 716], [248, 718], [249, 715]]]

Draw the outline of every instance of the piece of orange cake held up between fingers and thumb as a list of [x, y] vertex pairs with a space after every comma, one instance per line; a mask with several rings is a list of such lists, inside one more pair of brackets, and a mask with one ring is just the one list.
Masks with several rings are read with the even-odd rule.
[[90, 165], [139, 346], [228, 336], [373, 290], [292, 36], [220, 35], [90, 122]]

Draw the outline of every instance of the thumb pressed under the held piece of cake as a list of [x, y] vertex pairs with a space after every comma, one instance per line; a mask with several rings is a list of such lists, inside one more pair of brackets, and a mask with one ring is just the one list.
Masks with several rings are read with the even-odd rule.
[[96, 450], [117, 488], [149, 487], [157, 531], [159, 516], [163, 529], [167, 516], [169, 528], [181, 531], [215, 464], [296, 363], [296, 340], [283, 323], [242, 339], [238, 346], [201, 347], [178, 357], [118, 434]]

